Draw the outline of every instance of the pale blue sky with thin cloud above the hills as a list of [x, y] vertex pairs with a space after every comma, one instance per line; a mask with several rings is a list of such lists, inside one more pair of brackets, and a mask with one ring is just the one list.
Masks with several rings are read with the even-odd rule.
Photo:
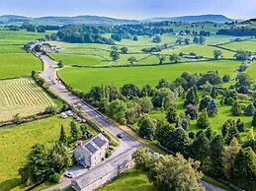
[[97, 15], [146, 19], [221, 14], [256, 18], [256, 0], [1, 0], [0, 15], [29, 17]]

